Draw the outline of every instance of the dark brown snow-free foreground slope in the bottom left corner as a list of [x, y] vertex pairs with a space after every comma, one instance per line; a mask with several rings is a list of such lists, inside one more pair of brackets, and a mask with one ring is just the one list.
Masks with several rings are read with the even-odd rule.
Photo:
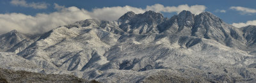
[[93, 83], [97, 82], [86, 81], [81, 78], [77, 78], [74, 75], [53, 75], [44, 73], [33, 73], [26, 71], [12, 71], [0, 68], [0, 82], [83, 82]]

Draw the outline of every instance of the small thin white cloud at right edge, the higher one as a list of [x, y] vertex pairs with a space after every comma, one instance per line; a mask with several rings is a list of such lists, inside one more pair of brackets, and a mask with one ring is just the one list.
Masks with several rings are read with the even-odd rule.
[[255, 9], [245, 8], [245, 7], [242, 7], [242, 6], [231, 6], [230, 9], [240, 11], [241, 14], [249, 14], [250, 15], [252, 13], [256, 13]]

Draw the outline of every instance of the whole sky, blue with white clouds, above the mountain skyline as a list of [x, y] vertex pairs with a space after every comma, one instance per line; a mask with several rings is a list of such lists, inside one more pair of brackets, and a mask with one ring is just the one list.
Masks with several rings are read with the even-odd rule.
[[168, 18], [183, 9], [195, 14], [210, 11], [228, 24], [242, 27], [256, 25], [255, 3], [255, 0], [1, 0], [0, 34], [12, 29], [24, 33], [49, 31], [84, 19], [117, 20], [126, 11], [147, 10], [161, 12]]

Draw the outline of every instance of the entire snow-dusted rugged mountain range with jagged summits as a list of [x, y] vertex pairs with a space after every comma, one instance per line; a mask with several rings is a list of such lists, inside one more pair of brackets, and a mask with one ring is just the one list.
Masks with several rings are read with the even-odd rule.
[[80, 20], [36, 36], [3, 34], [0, 67], [99, 82], [255, 82], [255, 31], [210, 12], [168, 19], [129, 11], [116, 21]]

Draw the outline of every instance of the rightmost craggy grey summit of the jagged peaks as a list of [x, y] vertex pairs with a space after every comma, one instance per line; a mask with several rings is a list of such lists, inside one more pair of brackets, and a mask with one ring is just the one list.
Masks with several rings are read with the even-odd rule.
[[196, 15], [192, 36], [224, 40], [225, 35], [227, 34], [221, 27], [222, 23], [223, 22], [218, 17], [209, 12], [200, 13], [199, 15]]

